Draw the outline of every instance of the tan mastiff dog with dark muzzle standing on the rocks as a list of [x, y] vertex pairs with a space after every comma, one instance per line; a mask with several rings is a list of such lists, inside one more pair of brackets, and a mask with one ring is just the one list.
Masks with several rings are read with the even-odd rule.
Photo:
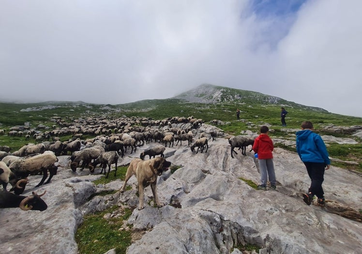
[[128, 166], [126, 177], [124, 179], [121, 192], [126, 190], [126, 184], [129, 178], [132, 175], [136, 175], [138, 183], [138, 194], [139, 194], [139, 205], [138, 210], [144, 208], [143, 206], [143, 191], [144, 189], [151, 185], [151, 190], [153, 194], [153, 201], [157, 204], [157, 207], [165, 206], [166, 204], [160, 203], [157, 194], [157, 176], [162, 175], [164, 171], [167, 171], [171, 166], [171, 162], [167, 161], [163, 157], [156, 157], [152, 159], [142, 160], [142, 159], [133, 159]]

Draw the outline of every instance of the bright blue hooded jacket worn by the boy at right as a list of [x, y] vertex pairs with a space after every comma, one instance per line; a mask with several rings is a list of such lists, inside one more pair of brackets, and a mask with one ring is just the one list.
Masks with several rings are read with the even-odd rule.
[[297, 153], [303, 162], [324, 162], [330, 165], [328, 151], [322, 138], [310, 129], [297, 131]]

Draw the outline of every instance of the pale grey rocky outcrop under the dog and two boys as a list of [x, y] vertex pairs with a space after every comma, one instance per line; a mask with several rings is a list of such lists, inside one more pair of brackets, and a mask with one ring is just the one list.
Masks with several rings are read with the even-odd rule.
[[[209, 128], [204, 124], [198, 131]], [[301, 193], [310, 180], [296, 153], [275, 148], [277, 190], [259, 191], [245, 181], [260, 180], [249, 150], [233, 159], [222, 137], [209, 141], [208, 152], [202, 154], [192, 153], [187, 143], [167, 147], [165, 158], [180, 168], [159, 177], [157, 188], [160, 201], [170, 205], [147, 205], [152, 191], [145, 189], [146, 207], [135, 209], [127, 222], [138, 232], [127, 253], [236, 254], [241, 252], [234, 246], [246, 243], [259, 246], [260, 254], [360, 253], [360, 175], [332, 166], [323, 184], [326, 206], [307, 206]], [[118, 165], [139, 158], [140, 152], [120, 158]], [[42, 176], [29, 177], [24, 194], [46, 190], [47, 210], [0, 209], [0, 253], [76, 254], [74, 236], [83, 215], [111, 205], [138, 205], [134, 176], [128, 181], [132, 190], [90, 198], [102, 190], [119, 190], [123, 181], [95, 186], [92, 181], [101, 175], [72, 172], [67, 158], [59, 157], [60, 168], [51, 183], [34, 188]]]

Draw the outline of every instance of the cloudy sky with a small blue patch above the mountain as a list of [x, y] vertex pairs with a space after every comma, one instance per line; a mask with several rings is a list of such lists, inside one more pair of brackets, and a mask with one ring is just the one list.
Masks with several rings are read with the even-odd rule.
[[362, 117], [361, 0], [0, 0], [0, 101], [209, 83]]

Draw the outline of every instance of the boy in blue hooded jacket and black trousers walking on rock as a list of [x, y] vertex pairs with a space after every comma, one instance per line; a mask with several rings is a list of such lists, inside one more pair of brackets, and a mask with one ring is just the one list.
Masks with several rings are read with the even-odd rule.
[[324, 205], [324, 192], [322, 183], [324, 181], [324, 170], [328, 170], [331, 161], [328, 156], [326, 145], [322, 138], [312, 132], [313, 124], [310, 121], [302, 122], [302, 130], [297, 131], [297, 152], [304, 163], [309, 178], [312, 182], [308, 193], [303, 194], [303, 201], [309, 206], [313, 196], [317, 196], [317, 203]]

